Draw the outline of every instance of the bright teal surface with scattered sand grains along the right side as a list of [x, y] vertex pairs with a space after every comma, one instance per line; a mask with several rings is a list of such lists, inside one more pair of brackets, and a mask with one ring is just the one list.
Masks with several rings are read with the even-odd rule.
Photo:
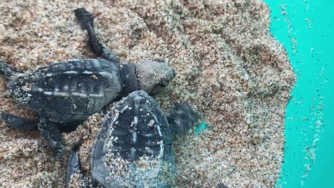
[[270, 31], [288, 51], [297, 75], [276, 187], [334, 187], [334, 1], [265, 3]]

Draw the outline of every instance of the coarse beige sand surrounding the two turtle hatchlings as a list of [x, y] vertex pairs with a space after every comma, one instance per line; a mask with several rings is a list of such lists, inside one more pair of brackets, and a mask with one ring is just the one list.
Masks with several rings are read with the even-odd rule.
[[[189, 102], [208, 123], [174, 142], [176, 187], [273, 187], [283, 158], [285, 105], [295, 74], [270, 35], [270, 11], [245, 1], [2, 1], [0, 59], [21, 71], [52, 61], [93, 58], [72, 11], [96, 16], [101, 41], [122, 62], [163, 59], [177, 71], [155, 95], [161, 108]], [[37, 117], [15, 103], [0, 78], [0, 111]], [[0, 125], [0, 187], [64, 187], [66, 156], [75, 142], [88, 175], [103, 115], [63, 133], [57, 161], [38, 130]]]

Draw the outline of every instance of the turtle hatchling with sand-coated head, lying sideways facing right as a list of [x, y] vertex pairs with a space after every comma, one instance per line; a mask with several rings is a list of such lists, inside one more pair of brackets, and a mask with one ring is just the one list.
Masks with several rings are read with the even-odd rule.
[[161, 61], [120, 64], [98, 41], [93, 16], [85, 9], [74, 12], [81, 28], [88, 31], [89, 46], [98, 58], [52, 63], [25, 73], [0, 61], [0, 74], [9, 79], [7, 86], [16, 101], [40, 115], [39, 120], [29, 120], [2, 113], [4, 121], [22, 130], [39, 127], [59, 157], [64, 150], [60, 132], [75, 130], [113, 100], [134, 90], [152, 93], [175, 77], [173, 68]]

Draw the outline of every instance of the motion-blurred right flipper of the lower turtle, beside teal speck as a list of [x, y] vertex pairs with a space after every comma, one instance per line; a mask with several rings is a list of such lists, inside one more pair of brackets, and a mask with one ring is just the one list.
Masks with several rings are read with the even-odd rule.
[[189, 103], [173, 103], [166, 117], [173, 136], [186, 134], [199, 120], [198, 113], [191, 109]]

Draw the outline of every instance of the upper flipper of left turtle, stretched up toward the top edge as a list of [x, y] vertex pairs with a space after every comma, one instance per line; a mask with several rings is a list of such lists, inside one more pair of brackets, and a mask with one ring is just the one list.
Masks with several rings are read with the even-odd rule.
[[96, 54], [98, 57], [106, 58], [110, 61], [113, 61], [115, 63], [118, 63], [118, 57], [113, 53], [108, 47], [106, 47], [103, 43], [100, 43], [98, 41], [98, 37], [96, 36], [96, 33], [93, 28], [93, 22], [94, 17], [86, 11], [86, 9], [76, 9], [74, 10], [74, 13], [76, 14], [76, 19], [78, 19], [81, 28], [86, 30], [88, 32], [89, 36], [89, 46], [91, 46], [91, 49], [93, 53]]

